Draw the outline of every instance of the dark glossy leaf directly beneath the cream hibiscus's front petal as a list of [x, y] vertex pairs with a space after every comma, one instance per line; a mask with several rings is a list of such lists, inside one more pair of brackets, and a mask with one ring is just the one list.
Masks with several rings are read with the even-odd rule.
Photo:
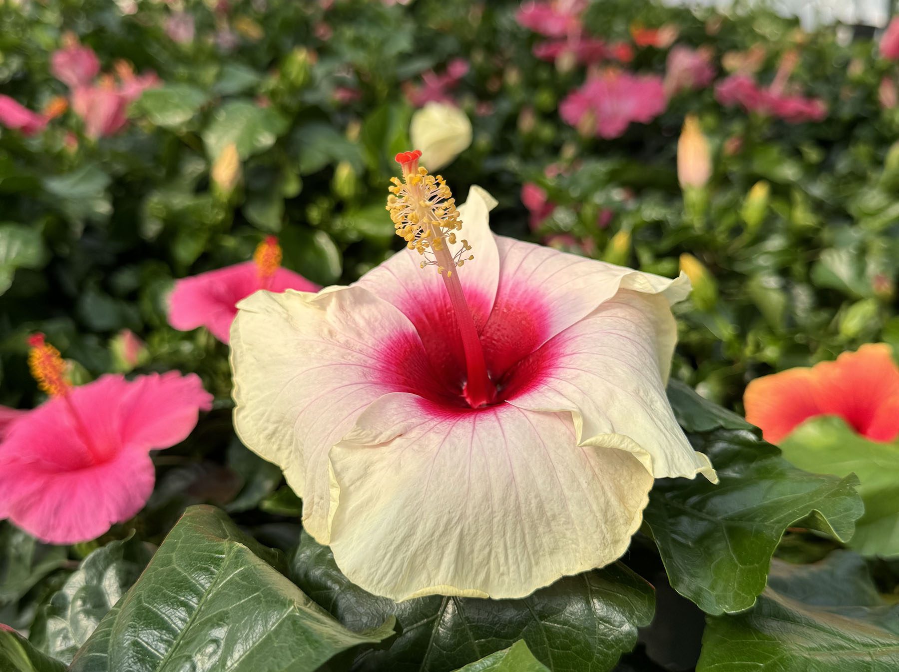
[[353, 585], [330, 549], [303, 533], [291, 576], [352, 630], [395, 614], [401, 634], [387, 650], [366, 650], [354, 670], [449, 672], [524, 640], [554, 672], [615, 666], [653, 617], [653, 589], [621, 564], [565, 577], [521, 600], [427, 596], [395, 603]]

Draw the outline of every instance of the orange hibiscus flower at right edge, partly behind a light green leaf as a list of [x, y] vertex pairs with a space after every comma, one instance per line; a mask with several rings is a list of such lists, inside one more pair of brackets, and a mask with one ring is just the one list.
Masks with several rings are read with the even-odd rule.
[[810, 417], [841, 417], [871, 441], [899, 436], [899, 366], [885, 343], [862, 345], [835, 362], [788, 369], [750, 382], [746, 420], [777, 444]]

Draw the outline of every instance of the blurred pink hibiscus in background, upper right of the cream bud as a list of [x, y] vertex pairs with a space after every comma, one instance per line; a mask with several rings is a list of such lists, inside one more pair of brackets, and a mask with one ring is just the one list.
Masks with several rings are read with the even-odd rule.
[[664, 112], [662, 78], [605, 70], [565, 97], [559, 113], [585, 135], [618, 138], [632, 122], [649, 123]]

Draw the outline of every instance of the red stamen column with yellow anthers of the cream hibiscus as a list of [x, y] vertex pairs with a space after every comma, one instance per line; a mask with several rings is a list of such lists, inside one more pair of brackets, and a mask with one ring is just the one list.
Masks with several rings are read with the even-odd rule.
[[456, 231], [462, 228], [456, 201], [440, 175], [429, 175], [418, 166], [421, 156], [417, 149], [396, 155], [396, 162], [403, 169], [403, 182], [393, 179], [387, 210], [396, 235], [406, 241], [409, 249], [422, 255], [422, 268], [437, 266], [465, 354], [467, 378], [462, 393], [471, 408], [480, 408], [494, 403], [496, 385], [487, 372], [484, 348], [458, 280], [458, 268], [474, 259], [474, 255], [463, 256], [471, 250], [464, 239], [455, 253], [450, 251], [449, 246], [456, 244]]

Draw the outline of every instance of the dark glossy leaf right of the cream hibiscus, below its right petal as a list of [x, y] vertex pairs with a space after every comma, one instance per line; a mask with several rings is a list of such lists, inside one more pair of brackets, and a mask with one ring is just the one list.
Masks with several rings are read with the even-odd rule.
[[[696, 417], [708, 402], [672, 396], [678, 417]], [[708, 420], [721, 425], [727, 418]], [[798, 470], [750, 431], [717, 429], [690, 436], [720, 482], [660, 479], [649, 497], [649, 525], [672, 587], [708, 614], [737, 612], [765, 587], [771, 555], [790, 524], [845, 542], [862, 513], [855, 476]]]

